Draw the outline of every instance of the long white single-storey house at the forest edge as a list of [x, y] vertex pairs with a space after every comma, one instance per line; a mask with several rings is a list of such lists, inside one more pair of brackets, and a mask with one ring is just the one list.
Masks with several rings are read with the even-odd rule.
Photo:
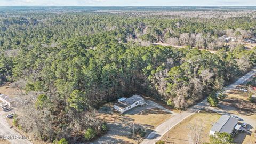
[[118, 99], [118, 102], [114, 105], [114, 109], [118, 110], [121, 113], [124, 113], [127, 110], [130, 110], [138, 105], [141, 105], [143, 102], [144, 98], [142, 98], [140, 95], [135, 94], [127, 99]]

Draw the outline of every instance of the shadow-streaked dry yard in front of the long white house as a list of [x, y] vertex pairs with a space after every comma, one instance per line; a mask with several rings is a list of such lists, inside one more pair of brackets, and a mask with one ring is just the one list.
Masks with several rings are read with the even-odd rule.
[[[107, 103], [99, 110], [98, 117], [107, 122], [109, 131], [93, 143], [137, 143], [142, 139], [137, 135], [133, 140], [132, 129], [141, 128], [148, 135], [156, 126], [172, 117], [172, 111], [165, 109], [157, 103], [145, 100], [148, 105], [135, 107], [124, 114], [120, 114], [113, 108], [114, 103]], [[145, 135], [145, 136], [146, 136]]]

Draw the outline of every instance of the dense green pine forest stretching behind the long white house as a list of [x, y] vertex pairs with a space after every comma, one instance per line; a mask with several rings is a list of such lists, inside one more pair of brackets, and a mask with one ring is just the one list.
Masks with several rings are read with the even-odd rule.
[[20, 96], [27, 117], [18, 115], [15, 124], [44, 141], [103, 134], [97, 109], [132, 93], [187, 108], [256, 63], [256, 47], [228, 47], [219, 39], [253, 38], [253, 12], [219, 19], [13, 10], [0, 12], [0, 82], [26, 91]]

